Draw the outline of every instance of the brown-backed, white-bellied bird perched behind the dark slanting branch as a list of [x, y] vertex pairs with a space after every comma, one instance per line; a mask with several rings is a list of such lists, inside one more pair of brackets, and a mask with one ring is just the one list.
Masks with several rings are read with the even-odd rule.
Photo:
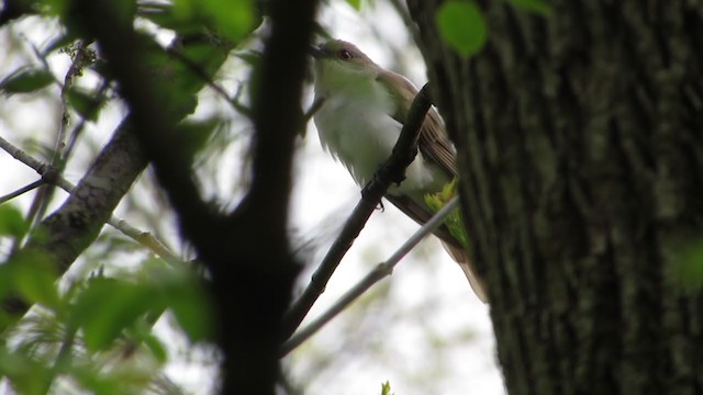
[[[362, 188], [390, 157], [417, 88], [342, 40], [312, 46], [310, 53], [314, 58], [314, 101], [322, 103], [314, 113], [320, 142]], [[405, 179], [391, 185], [384, 198], [422, 225], [433, 215], [425, 195], [442, 191], [458, 174], [456, 150], [434, 108], [425, 116], [417, 148]], [[464, 247], [444, 226], [435, 236], [459, 263], [477, 296], [488, 303], [484, 282], [473, 271]]]

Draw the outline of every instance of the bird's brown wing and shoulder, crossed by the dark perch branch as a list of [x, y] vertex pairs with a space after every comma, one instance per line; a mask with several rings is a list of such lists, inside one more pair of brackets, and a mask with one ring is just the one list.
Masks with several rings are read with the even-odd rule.
[[[408, 111], [417, 94], [417, 89], [405, 77], [392, 71], [383, 70], [379, 72], [377, 79], [389, 87], [388, 91], [394, 94], [399, 105], [393, 119], [404, 124], [408, 120]], [[393, 88], [390, 88], [391, 86]], [[439, 165], [449, 177], [457, 176], [456, 153], [435, 109], [429, 109], [425, 122], [420, 128], [417, 148], [425, 159]]]

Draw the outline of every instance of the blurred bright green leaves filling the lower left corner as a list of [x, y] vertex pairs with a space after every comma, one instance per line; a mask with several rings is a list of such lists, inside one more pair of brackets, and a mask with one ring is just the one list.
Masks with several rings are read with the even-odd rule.
[[[210, 339], [210, 303], [191, 270], [149, 260], [136, 272], [99, 274], [62, 294], [52, 270], [43, 267], [51, 259], [38, 258], [0, 266], [1, 295], [19, 293], [49, 307], [24, 319], [15, 330], [23, 334], [16, 348], [0, 343], [0, 375], [22, 394], [45, 393], [57, 372], [94, 393], [142, 393], [168, 360], [161, 339], [152, 331], [154, 320], [166, 311], [174, 313], [191, 341]], [[71, 350], [70, 358], [62, 353], [65, 347]], [[115, 352], [126, 365], [107, 369], [105, 357]], [[132, 354], [142, 357], [131, 361]], [[148, 370], [137, 362], [145, 357], [153, 361]]]

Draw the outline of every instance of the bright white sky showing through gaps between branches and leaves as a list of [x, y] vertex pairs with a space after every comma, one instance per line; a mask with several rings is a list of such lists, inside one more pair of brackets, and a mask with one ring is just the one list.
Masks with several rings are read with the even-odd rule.
[[[393, 43], [398, 48], [409, 47], [405, 45], [409, 43], [405, 26], [384, 1], [377, 1], [377, 9], [372, 12], [366, 10], [361, 16], [345, 2], [333, 1], [333, 7], [321, 13], [320, 21], [337, 38], [356, 43], [383, 67], [393, 67], [392, 56], [384, 50], [388, 43]], [[27, 25], [31, 25], [31, 22], [21, 22], [18, 29]], [[37, 46], [45, 45], [46, 37], [53, 33], [55, 32], [34, 29], [27, 41]], [[377, 36], [383, 37], [387, 43], [380, 42]], [[401, 56], [408, 69], [397, 71], [408, 74], [417, 86], [424, 83], [426, 78], [419, 52], [415, 48], [408, 49]], [[4, 74], [19, 66], [19, 63], [0, 61], [0, 72]], [[67, 66], [66, 55], [53, 58], [52, 67], [59, 78], [63, 78]], [[236, 72], [232, 71], [230, 75], [230, 71], [225, 70], [226, 77], [236, 79]], [[51, 142], [49, 137], [54, 135], [58, 124], [59, 113], [56, 106], [44, 105], [43, 110], [37, 110], [36, 106], [27, 105], [27, 100], [0, 98], [0, 108], [4, 109], [0, 111], [0, 135], [20, 145], [23, 133], [32, 132], [37, 135], [36, 131], [47, 131], [47, 142]], [[306, 100], [308, 103], [311, 101], [310, 94]], [[32, 109], [32, 113], [26, 109]], [[37, 111], [41, 112], [41, 116], [37, 116]], [[119, 108], [110, 112], [108, 116], [102, 116], [101, 123], [88, 128], [90, 139], [97, 145], [108, 140], [110, 132], [121, 117], [122, 111]], [[13, 115], [10, 117], [8, 114]], [[66, 177], [74, 182], [78, 181], [89, 162], [80, 151], [76, 158], [66, 172]], [[222, 180], [222, 183], [217, 183], [221, 192], [235, 183], [237, 174], [233, 172], [237, 172], [236, 169], [242, 166], [242, 161], [233, 156], [231, 162], [227, 160], [222, 165], [221, 168], [230, 171], [214, 176], [215, 179]], [[0, 169], [3, 169], [0, 194], [36, 179], [32, 170], [5, 153], [0, 153]], [[330, 244], [346, 215], [356, 205], [359, 188], [354, 184], [342, 165], [322, 151], [312, 124], [306, 138], [300, 143], [294, 174], [291, 219], [295, 234], [304, 240], [314, 240], [315, 244]], [[227, 187], [222, 187], [223, 184]], [[25, 207], [29, 201], [21, 199], [18, 202], [20, 206]], [[129, 213], [120, 214], [129, 216]], [[133, 225], [143, 226], [138, 223]], [[333, 304], [375, 263], [388, 258], [416, 229], [417, 225], [391, 204], [386, 204], [384, 212], [377, 211], [335, 272], [311, 315], [320, 314]], [[176, 232], [171, 236], [176, 237]], [[324, 250], [315, 252], [319, 258]], [[306, 278], [309, 274], [305, 274]], [[383, 308], [379, 309], [376, 305], [366, 312], [365, 302], [358, 302], [357, 305], [361, 307], [357, 306], [356, 313], [343, 313], [284, 360], [286, 369], [293, 382], [304, 388], [305, 394], [379, 394], [381, 383], [387, 380], [397, 395], [427, 394], [427, 387], [417, 384], [421, 380], [431, 383], [432, 393], [439, 395], [505, 393], [495, 365], [494, 337], [488, 307], [473, 295], [459, 267], [436, 240], [423, 241], [419, 250], [401, 261], [393, 275], [383, 282], [388, 283], [383, 286], [390, 286]], [[427, 304], [427, 301], [432, 303]], [[379, 321], [373, 319], [375, 315], [382, 317], [382, 325], [378, 326]], [[414, 315], [417, 319], [403, 319], [403, 315]], [[166, 324], [160, 323], [158, 330], [165, 334], [164, 336], [171, 337], [172, 334], [169, 334]], [[426, 337], [427, 327], [432, 328], [433, 338]], [[364, 334], [364, 337], [356, 338], [356, 334]], [[442, 356], [436, 354], [433, 342], [446, 341], [465, 334], [471, 334], [468, 341], [445, 350]], [[311, 359], [311, 356], [337, 350], [339, 343], [348, 339], [354, 340], [354, 348], [344, 350], [347, 363], [339, 364], [338, 369], [332, 371], [313, 365], [311, 361], [314, 359]], [[167, 346], [171, 352], [177, 352], [186, 345], [182, 339], [169, 339]], [[380, 348], [386, 350], [381, 357], [378, 353]], [[193, 368], [187, 361], [176, 361], [167, 372], [171, 380], [182, 384], [193, 394], [207, 393], [204, 388], [211, 384], [211, 369]], [[320, 374], [316, 374], [317, 372]], [[442, 373], [436, 373], [435, 379], [435, 372]]]

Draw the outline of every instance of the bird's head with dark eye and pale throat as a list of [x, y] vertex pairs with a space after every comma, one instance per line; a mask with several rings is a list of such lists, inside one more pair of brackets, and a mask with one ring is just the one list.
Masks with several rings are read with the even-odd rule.
[[373, 80], [379, 66], [356, 45], [342, 40], [328, 41], [310, 49], [315, 58], [317, 87], [335, 89]]

